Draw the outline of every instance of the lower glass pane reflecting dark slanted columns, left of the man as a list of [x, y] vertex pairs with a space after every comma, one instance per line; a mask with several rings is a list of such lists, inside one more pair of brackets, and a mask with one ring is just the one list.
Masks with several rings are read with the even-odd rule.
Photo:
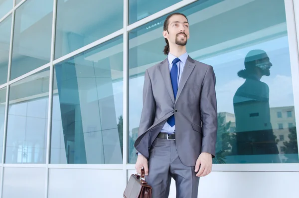
[[122, 164], [123, 36], [54, 71], [51, 164]]

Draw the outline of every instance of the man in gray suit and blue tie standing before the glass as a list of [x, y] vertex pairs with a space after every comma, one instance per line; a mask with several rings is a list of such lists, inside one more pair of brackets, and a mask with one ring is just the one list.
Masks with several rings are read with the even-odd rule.
[[167, 16], [163, 36], [167, 58], [145, 72], [135, 168], [145, 169], [153, 198], [168, 197], [171, 177], [177, 198], [197, 198], [199, 177], [211, 172], [215, 157], [215, 74], [188, 56], [184, 14]]

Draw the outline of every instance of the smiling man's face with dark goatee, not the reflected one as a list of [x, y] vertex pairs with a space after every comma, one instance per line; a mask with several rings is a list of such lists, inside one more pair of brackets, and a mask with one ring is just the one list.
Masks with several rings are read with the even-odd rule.
[[168, 31], [163, 31], [164, 38], [168, 42], [177, 45], [186, 45], [189, 38], [189, 23], [182, 15], [173, 15], [168, 19]]

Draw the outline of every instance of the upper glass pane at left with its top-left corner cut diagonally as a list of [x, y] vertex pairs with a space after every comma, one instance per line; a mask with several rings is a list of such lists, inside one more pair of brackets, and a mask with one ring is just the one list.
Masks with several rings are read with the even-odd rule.
[[50, 62], [53, 0], [26, 0], [15, 11], [10, 79]]

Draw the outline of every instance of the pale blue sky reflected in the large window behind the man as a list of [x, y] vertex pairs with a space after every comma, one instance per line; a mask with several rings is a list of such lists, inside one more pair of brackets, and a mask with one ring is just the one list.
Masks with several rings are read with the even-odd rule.
[[[261, 81], [270, 88], [270, 107], [293, 106], [293, 88], [289, 57], [288, 37], [266, 41], [254, 46], [245, 47], [225, 54], [199, 60], [211, 64], [216, 75], [216, 93], [218, 112], [233, 111], [233, 96], [244, 82], [237, 72], [244, 69], [244, 58], [252, 49], [263, 49], [268, 53], [273, 66], [269, 77]], [[132, 78], [129, 83], [129, 130], [139, 127], [142, 103], [144, 76]], [[119, 100], [119, 99], [117, 99]], [[118, 108], [117, 108], [118, 109]]]

